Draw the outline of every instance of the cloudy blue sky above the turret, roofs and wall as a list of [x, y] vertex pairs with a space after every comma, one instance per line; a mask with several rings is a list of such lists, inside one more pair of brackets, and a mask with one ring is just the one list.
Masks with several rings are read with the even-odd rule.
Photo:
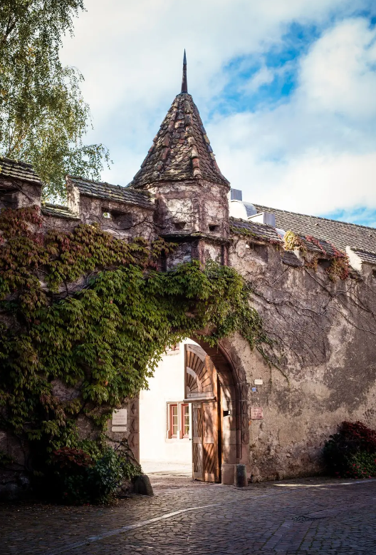
[[376, 226], [376, 4], [100, 0], [67, 38], [85, 76], [103, 179], [126, 185], [188, 86], [216, 160], [246, 200]]

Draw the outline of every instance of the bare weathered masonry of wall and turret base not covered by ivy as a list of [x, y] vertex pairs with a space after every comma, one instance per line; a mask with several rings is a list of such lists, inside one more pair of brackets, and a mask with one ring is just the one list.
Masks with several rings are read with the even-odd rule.
[[[13, 185], [0, 194], [0, 208], [40, 205], [39, 185]], [[226, 185], [182, 180], [159, 182], [147, 189], [155, 195], [155, 210], [75, 195], [71, 190], [65, 212], [42, 205], [44, 228], [71, 230], [80, 222], [97, 222], [125, 240], [136, 235], [147, 240], [162, 235], [178, 243], [174, 255], [162, 260], [162, 268], [192, 258], [202, 262], [211, 258], [236, 268], [251, 282], [254, 307], [275, 341], [268, 353], [274, 364], [268, 365], [241, 337], [229, 338], [244, 368], [245, 378], [241, 380], [246, 383], [239, 377], [238, 381], [245, 392], [248, 389], [248, 407], [263, 408], [263, 419], [249, 419], [239, 409], [242, 423], [237, 433], [247, 439], [236, 459], [247, 463], [254, 480], [322, 471], [323, 443], [340, 422], [360, 419], [376, 428], [376, 280], [372, 266], [359, 259], [357, 273], [333, 282], [325, 271], [325, 258], [318, 260], [317, 268], [303, 263], [288, 265], [281, 244], [230, 235]], [[254, 380], [263, 380], [256, 392], [251, 390]], [[239, 399], [243, 402], [243, 394]], [[137, 453], [137, 400], [133, 403], [129, 439]], [[248, 430], [244, 429], [247, 419], [249, 443]], [[85, 423], [82, 430], [85, 434], [93, 432], [85, 429]], [[3, 434], [0, 448], [4, 445], [10, 444]]]

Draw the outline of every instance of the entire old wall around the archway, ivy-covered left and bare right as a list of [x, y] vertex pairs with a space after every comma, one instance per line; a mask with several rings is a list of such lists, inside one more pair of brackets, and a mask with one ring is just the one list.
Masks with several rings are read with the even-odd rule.
[[[211, 203], [209, 185], [159, 184], [155, 210], [81, 195], [79, 215], [40, 208], [38, 185], [0, 194], [1, 208], [23, 206], [0, 214], [4, 480], [42, 472], [61, 447], [114, 439], [113, 409], [137, 395], [166, 345], [197, 331], [211, 345], [227, 338], [249, 407], [263, 408], [259, 420], [239, 413], [252, 479], [321, 472], [340, 422], [376, 427], [372, 268], [355, 272], [315, 238], [283, 243], [268, 226], [229, 233], [226, 187]], [[135, 225], [120, 229], [105, 210], [132, 212]]]

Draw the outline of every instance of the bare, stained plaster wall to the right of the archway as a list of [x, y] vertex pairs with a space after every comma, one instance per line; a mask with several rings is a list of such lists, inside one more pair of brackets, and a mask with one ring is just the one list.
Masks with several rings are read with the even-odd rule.
[[[249, 382], [249, 474], [275, 479], [323, 470], [322, 447], [343, 420], [376, 428], [376, 280], [292, 267], [281, 250], [234, 238], [230, 265], [254, 287], [254, 306], [275, 340], [269, 366], [236, 337]], [[251, 391], [254, 380], [263, 380]]]

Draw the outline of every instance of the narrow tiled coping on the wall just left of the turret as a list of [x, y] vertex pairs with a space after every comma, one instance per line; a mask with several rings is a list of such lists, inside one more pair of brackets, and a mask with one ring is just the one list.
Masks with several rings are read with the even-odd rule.
[[78, 188], [83, 196], [105, 198], [120, 203], [135, 204], [142, 208], [155, 210], [154, 201], [149, 193], [145, 191], [134, 190], [129, 187], [121, 187], [120, 185], [110, 185], [110, 183], [101, 183], [100, 181], [92, 181], [90, 179], [78, 178], [72, 175], [67, 176], [68, 181]]

